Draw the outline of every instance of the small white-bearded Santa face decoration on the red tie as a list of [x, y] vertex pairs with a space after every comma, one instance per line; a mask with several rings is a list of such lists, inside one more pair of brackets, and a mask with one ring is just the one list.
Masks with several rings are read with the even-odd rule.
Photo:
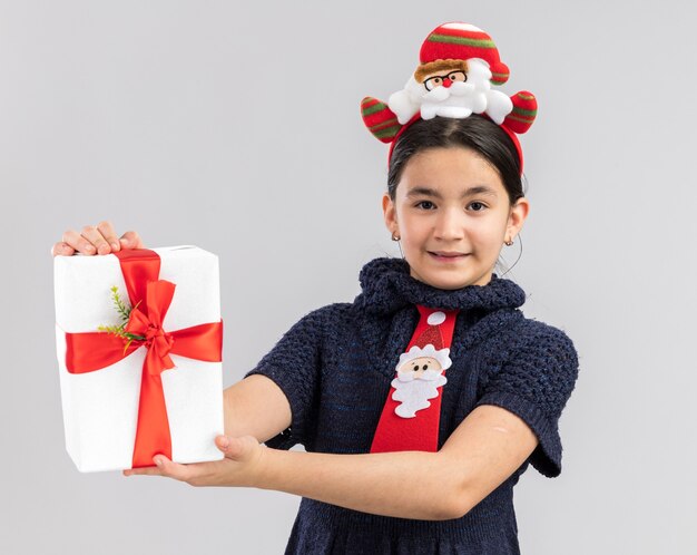
[[446, 383], [443, 370], [450, 368], [450, 349], [436, 350], [432, 344], [414, 345], [400, 356], [397, 377], [392, 380], [394, 409], [402, 418], [414, 418], [416, 411], [429, 408], [430, 399], [438, 397], [438, 388]]

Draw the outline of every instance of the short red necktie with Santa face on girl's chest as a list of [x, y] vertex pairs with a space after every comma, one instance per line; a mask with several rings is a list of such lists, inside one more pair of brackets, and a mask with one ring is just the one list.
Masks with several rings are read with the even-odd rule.
[[419, 323], [396, 363], [370, 452], [438, 450], [441, 395], [459, 310], [416, 308]]

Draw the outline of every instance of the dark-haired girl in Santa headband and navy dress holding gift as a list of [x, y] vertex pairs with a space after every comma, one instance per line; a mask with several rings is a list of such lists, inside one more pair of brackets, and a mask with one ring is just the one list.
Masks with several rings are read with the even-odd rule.
[[[392, 144], [382, 205], [403, 257], [365, 264], [353, 302], [306, 314], [225, 390], [223, 460], [158, 455], [126, 476], [300, 495], [286, 553], [519, 553], [513, 486], [530, 464], [560, 474], [578, 359], [493, 272], [528, 215], [514, 132], [534, 99], [487, 87], [508, 77], [492, 45], [440, 26], [403, 91], [363, 101]], [[141, 246], [104, 222], [67, 232], [53, 254]]]

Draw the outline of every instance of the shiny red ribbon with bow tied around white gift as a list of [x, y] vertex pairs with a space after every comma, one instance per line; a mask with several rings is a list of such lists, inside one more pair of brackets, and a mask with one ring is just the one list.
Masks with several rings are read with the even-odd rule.
[[171, 303], [175, 284], [158, 280], [160, 260], [147, 249], [114, 253], [121, 265], [128, 298], [134, 309], [126, 332], [143, 337], [124, 348], [124, 339], [110, 333], [66, 333], [66, 367], [70, 373], [101, 370], [134, 351], [147, 349], [140, 381], [138, 425], [132, 468], [153, 466], [157, 454], [171, 458], [171, 437], [160, 374], [174, 368], [169, 354], [206, 362], [220, 362], [223, 321], [167, 332], [163, 321]]

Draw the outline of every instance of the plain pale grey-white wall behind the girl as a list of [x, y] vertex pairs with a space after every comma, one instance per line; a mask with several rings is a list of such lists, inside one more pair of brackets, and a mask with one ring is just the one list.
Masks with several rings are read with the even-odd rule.
[[492, 35], [503, 90], [538, 96], [507, 276], [581, 357], [562, 474], [529, 469], [516, 489], [522, 551], [697, 552], [695, 9], [551, 0], [0, 2], [0, 551], [283, 551], [297, 497], [75, 469], [49, 249], [109, 218], [149, 246], [218, 253], [237, 381], [304, 313], [352, 300], [363, 263], [397, 254], [387, 147], [359, 104], [401, 88], [449, 20]]

